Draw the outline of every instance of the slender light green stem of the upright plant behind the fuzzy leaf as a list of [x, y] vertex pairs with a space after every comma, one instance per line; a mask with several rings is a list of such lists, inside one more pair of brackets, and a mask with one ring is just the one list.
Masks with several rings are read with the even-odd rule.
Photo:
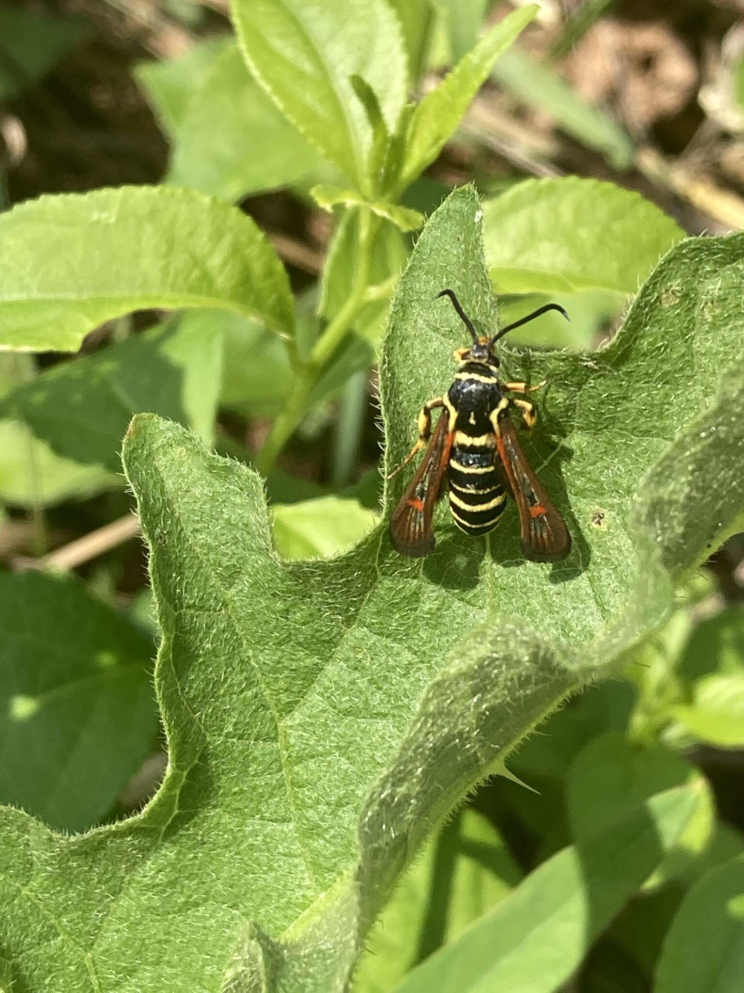
[[359, 261], [351, 293], [315, 343], [310, 361], [299, 368], [295, 387], [287, 407], [271, 426], [264, 446], [256, 458], [256, 468], [264, 474], [274, 468], [279, 453], [305, 415], [312, 387], [324, 372], [327, 363], [349, 333], [359, 311], [365, 305], [365, 293], [369, 285], [372, 262], [372, 247], [379, 223], [379, 217], [374, 216], [364, 208], [359, 209]]

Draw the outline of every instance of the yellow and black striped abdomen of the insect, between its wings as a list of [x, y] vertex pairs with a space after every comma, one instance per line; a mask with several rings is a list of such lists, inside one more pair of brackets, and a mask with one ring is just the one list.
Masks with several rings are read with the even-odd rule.
[[506, 493], [494, 465], [494, 446], [455, 442], [449, 456], [449, 510], [465, 534], [486, 534], [499, 522]]

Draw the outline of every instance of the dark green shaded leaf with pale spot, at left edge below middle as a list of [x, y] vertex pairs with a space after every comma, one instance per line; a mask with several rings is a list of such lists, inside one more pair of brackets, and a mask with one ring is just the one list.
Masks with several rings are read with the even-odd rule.
[[153, 747], [153, 642], [70, 576], [0, 574], [0, 616], [0, 802], [81, 831]]

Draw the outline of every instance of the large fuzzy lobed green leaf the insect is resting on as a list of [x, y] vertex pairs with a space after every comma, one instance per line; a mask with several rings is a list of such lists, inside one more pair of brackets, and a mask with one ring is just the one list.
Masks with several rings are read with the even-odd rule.
[[[465, 340], [434, 294], [452, 286], [493, 327], [479, 212], [455, 191], [401, 279], [381, 371], [391, 464]], [[261, 479], [138, 416], [124, 460], [171, 764], [140, 816], [74, 849], [0, 811], [14, 977], [30, 993], [340, 993], [434, 826], [567, 693], [614, 671], [735, 525], [743, 278], [744, 237], [692, 239], [603, 352], [503, 350], [510, 377], [550, 379], [525, 448], [573, 533], [558, 565], [524, 561], [513, 506], [488, 550], [442, 507], [424, 562], [382, 527], [341, 558], [282, 563]]]

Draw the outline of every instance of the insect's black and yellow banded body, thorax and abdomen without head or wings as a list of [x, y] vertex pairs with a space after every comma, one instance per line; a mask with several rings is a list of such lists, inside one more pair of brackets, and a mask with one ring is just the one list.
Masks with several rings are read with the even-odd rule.
[[454, 428], [447, 481], [449, 510], [466, 534], [485, 534], [496, 526], [506, 503], [498, 472], [495, 424], [507, 402], [496, 366], [466, 359], [442, 397]]

